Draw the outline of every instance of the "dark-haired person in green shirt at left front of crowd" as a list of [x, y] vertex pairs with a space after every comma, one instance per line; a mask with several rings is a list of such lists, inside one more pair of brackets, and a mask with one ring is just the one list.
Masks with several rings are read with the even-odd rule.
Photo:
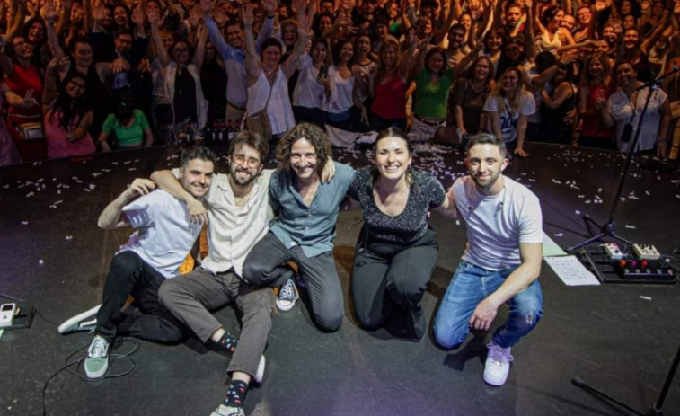
[[115, 111], [109, 114], [102, 125], [102, 132], [97, 140], [97, 143], [102, 146], [102, 152], [111, 151], [107, 141], [111, 130], [116, 133], [116, 146], [119, 149], [150, 147], [154, 143], [154, 133], [149, 127], [144, 112], [133, 109], [132, 102], [125, 98], [116, 104]]

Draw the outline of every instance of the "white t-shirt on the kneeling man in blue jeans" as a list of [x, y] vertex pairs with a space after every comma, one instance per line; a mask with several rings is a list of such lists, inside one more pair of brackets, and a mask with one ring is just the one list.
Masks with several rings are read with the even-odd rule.
[[498, 195], [484, 196], [470, 176], [458, 178], [449, 190], [467, 223], [463, 260], [486, 270], [505, 270], [522, 260], [519, 243], [543, 243], [543, 216], [538, 197], [504, 176]]

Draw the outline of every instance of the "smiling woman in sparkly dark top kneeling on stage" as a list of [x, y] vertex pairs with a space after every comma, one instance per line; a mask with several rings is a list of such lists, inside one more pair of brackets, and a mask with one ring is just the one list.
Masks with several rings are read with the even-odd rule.
[[355, 173], [349, 207], [364, 211], [352, 273], [354, 311], [366, 330], [381, 326], [395, 309], [406, 314], [406, 335], [421, 341], [427, 323], [420, 300], [435, 270], [437, 236], [428, 211], [455, 209], [436, 178], [411, 168], [412, 148], [399, 128], [375, 140], [371, 166]]

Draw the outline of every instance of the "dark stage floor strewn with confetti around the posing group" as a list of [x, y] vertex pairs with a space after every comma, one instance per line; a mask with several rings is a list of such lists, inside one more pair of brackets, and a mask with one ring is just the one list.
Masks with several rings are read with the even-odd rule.
[[[623, 158], [561, 146], [527, 147], [531, 157], [513, 161], [506, 173], [541, 199], [547, 235], [563, 248], [577, 243], [587, 235], [578, 213], [606, 220]], [[97, 305], [109, 261], [129, 234], [100, 230], [97, 217], [133, 178], [178, 164], [176, 153], [175, 148], [141, 150], [0, 170], [0, 292], [25, 299], [55, 323]], [[366, 155], [338, 152], [336, 158], [358, 166]], [[454, 151], [434, 148], [416, 160], [446, 187], [464, 173], [462, 156]], [[649, 172], [640, 162], [636, 159], [631, 168], [617, 231], [671, 252], [680, 243], [680, 174]], [[432, 223], [440, 255], [424, 299], [428, 321], [465, 238], [463, 224], [437, 215]], [[342, 328], [319, 332], [300, 304], [275, 315], [264, 382], [246, 399], [249, 415], [626, 414], [571, 385], [574, 376], [642, 411], [657, 398], [680, 343], [677, 285], [566, 287], [543, 263], [543, 321], [513, 349], [508, 384], [492, 388], [481, 379], [490, 333], [476, 333], [462, 350], [445, 351], [430, 337], [413, 343], [386, 330], [358, 329], [347, 295], [359, 227], [360, 212], [340, 215], [335, 254], [348, 311]], [[232, 309], [218, 317], [237, 331]], [[5, 331], [0, 414], [41, 414], [48, 377], [90, 341], [86, 333], [59, 336], [56, 326], [38, 317], [30, 330]], [[116, 352], [130, 348], [125, 342]], [[96, 383], [66, 372], [56, 376], [46, 393], [49, 414], [208, 416], [223, 400], [224, 356], [190, 344], [139, 341], [131, 359], [135, 367], [127, 376]], [[113, 370], [130, 366], [130, 360], [121, 359]], [[664, 410], [680, 415], [680, 377]]]

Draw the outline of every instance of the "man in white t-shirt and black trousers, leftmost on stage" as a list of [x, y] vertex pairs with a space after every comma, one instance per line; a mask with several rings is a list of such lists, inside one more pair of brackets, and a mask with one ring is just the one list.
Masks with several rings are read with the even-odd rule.
[[[180, 169], [182, 188], [202, 199], [212, 182], [215, 159], [216, 155], [205, 147], [184, 150]], [[130, 202], [131, 199], [135, 200]], [[166, 279], [179, 274], [201, 229], [200, 224], [190, 222], [184, 203], [164, 190], [155, 190], [155, 183], [147, 179], [133, 181], [104, 208], [98, 225], [105, 230], [132, 226], [137, 231], [110, 263], [102, 305], [59, 326], [62, 333], [82, 330], [81, 323], [96, 314], [95, 336], [84, 362], [85, 375], [91, 379], [106, 374], [109, 349], [119, 334], [163, 343], [182, 340], [183, 325], [161, 305], [158, 289]], [[121, 313], [130, 295], [141, 314]]]

